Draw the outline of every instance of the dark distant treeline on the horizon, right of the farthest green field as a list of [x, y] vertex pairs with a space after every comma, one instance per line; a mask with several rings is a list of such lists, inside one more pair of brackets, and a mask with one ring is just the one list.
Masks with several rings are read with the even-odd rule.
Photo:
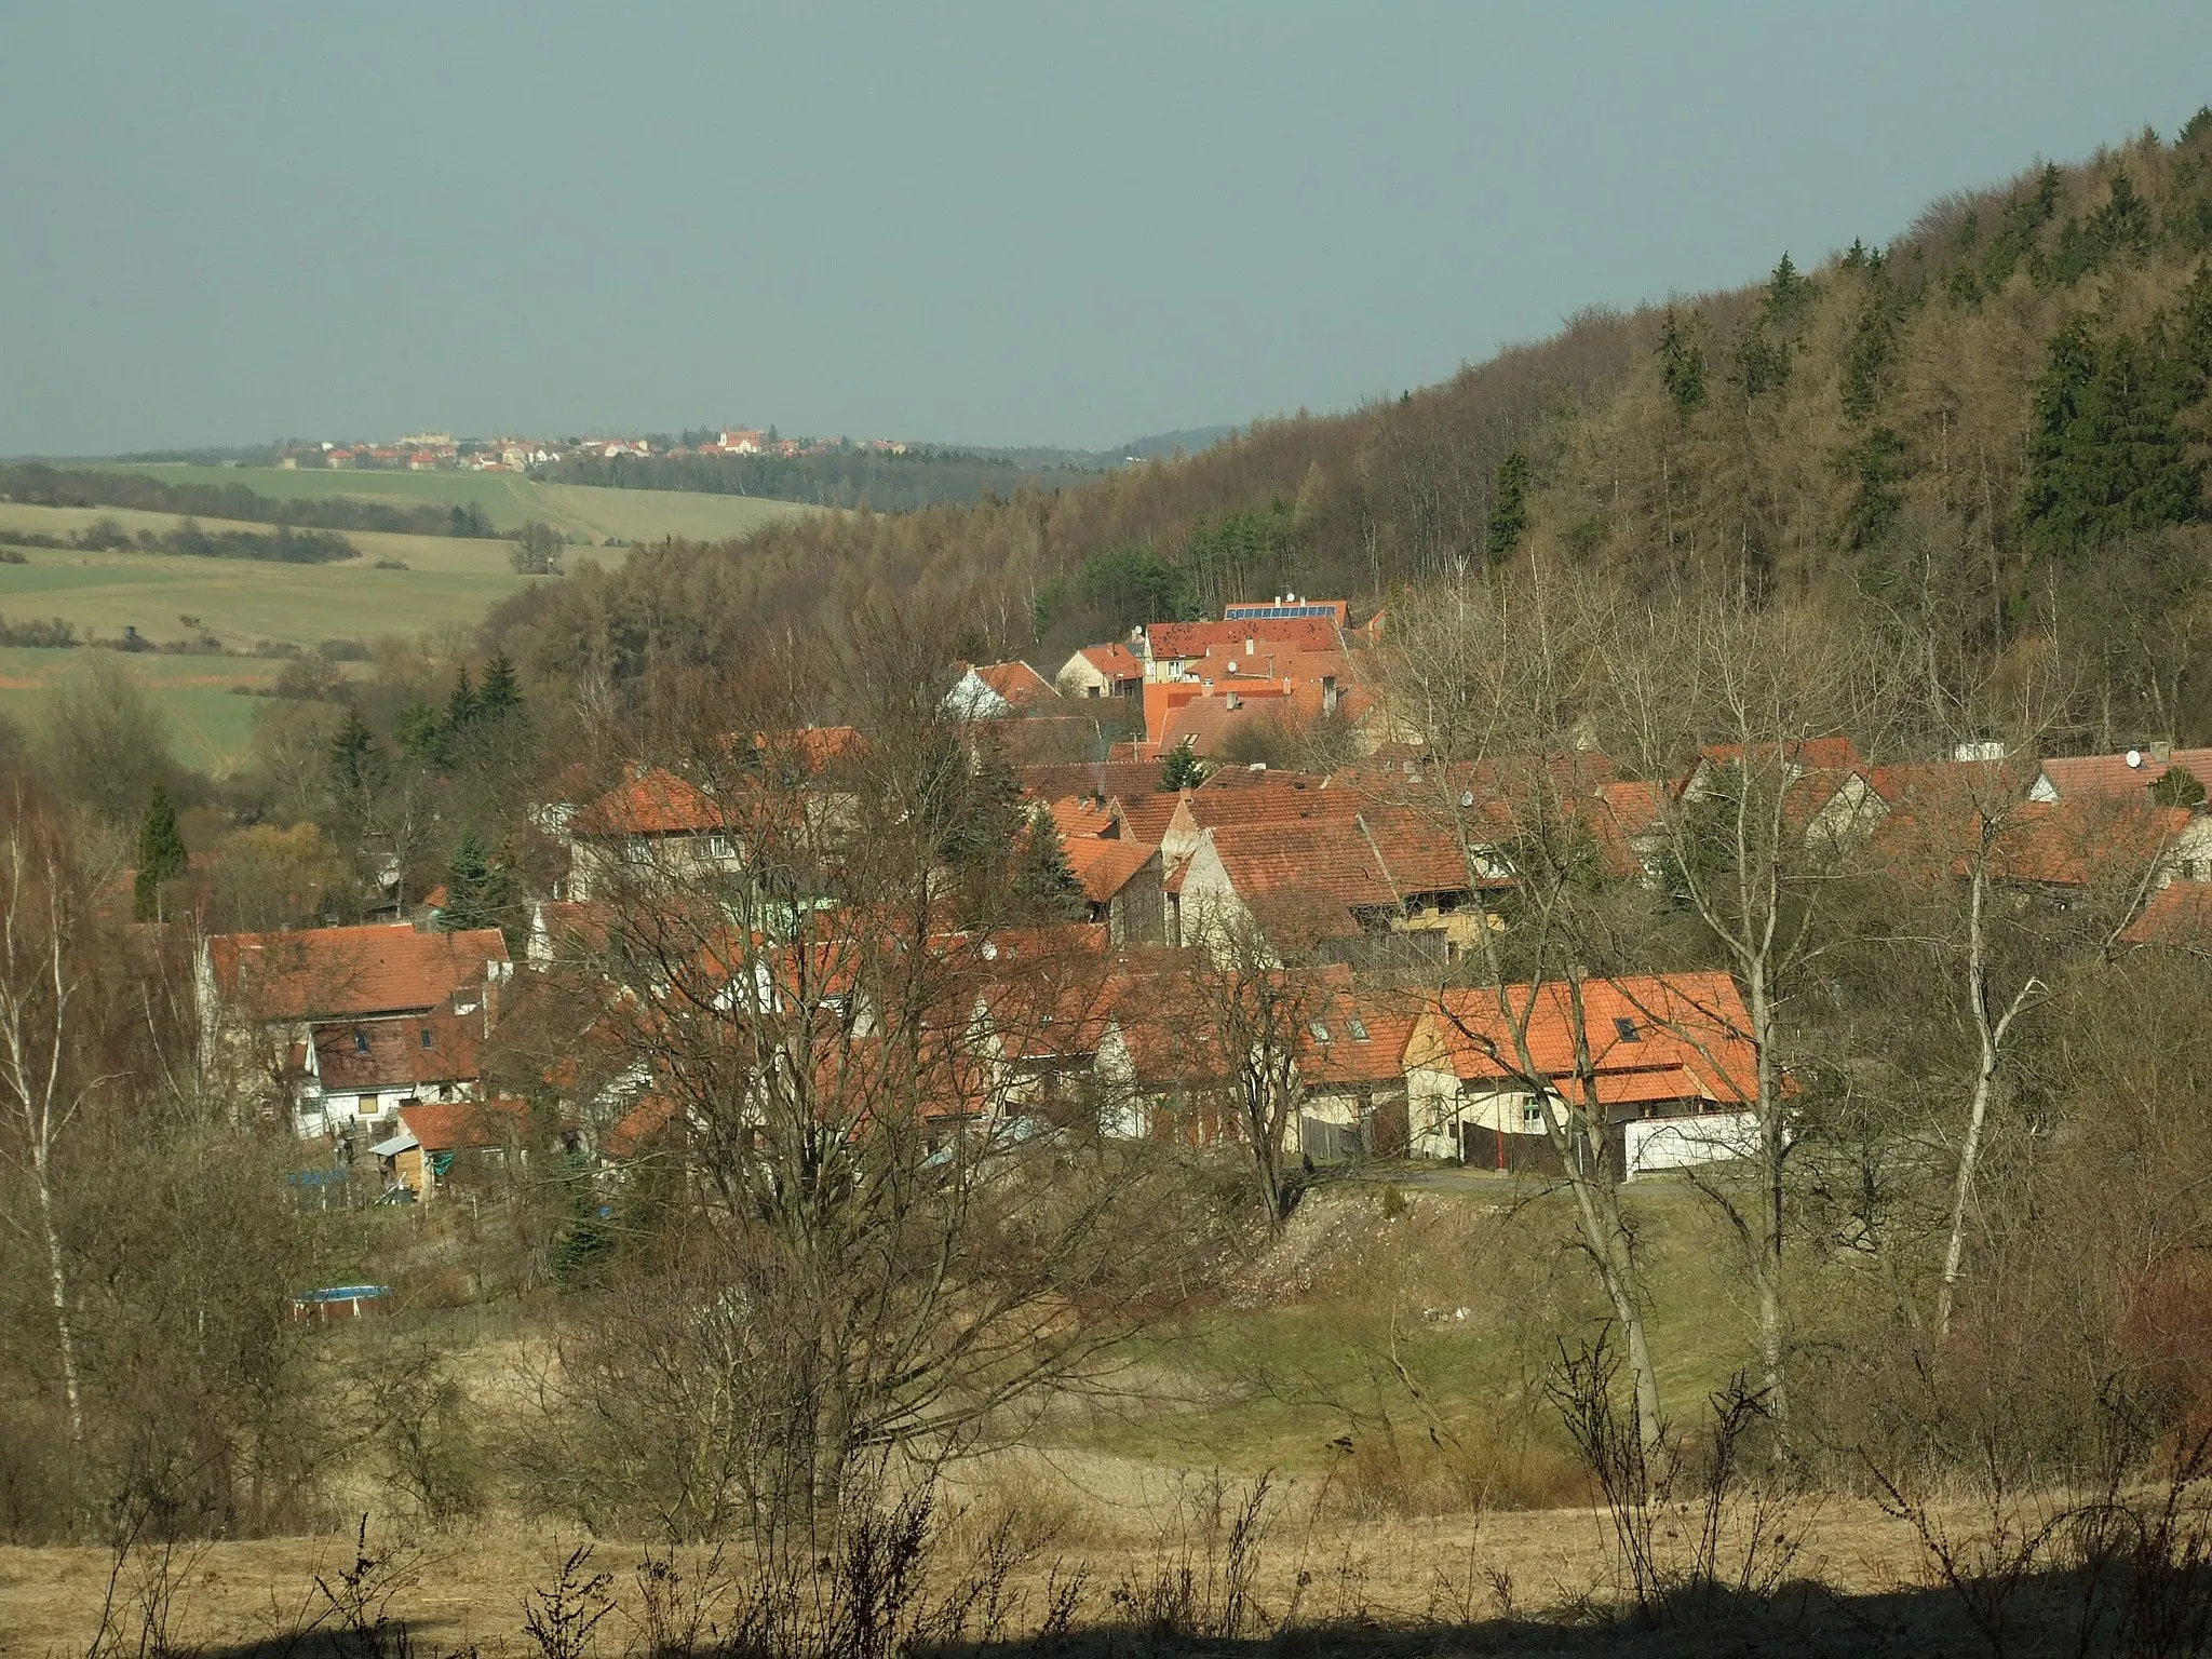
[[568, 456], [546, 476], [562, 484], [617, 489], [686, 489], [708, 495], [765, 495], [814, 507], [872, 507], [905, 513], [918, 507], [973, 504], [987, 495], [1057, 489], [1095, 476], [1095, 467], [1026, 465], [1020, 458], [958, 449], [838, 449], [825, 456]]

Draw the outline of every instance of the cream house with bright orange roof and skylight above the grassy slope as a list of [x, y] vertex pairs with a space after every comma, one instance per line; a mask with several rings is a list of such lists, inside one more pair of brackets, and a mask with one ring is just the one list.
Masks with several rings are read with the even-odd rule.
[[1756, 1139], [1759, 1088], [1747, 1033], [1743, 995], [1725, 973], [1584, 980], [1579, 998], [1555, 980], [1442, 991], [1407, 1037], [1413, 1150], [1500, 1172], [1557, 1172], [1544, 1099], [1568, 1121], [1595, 1097], [1604, 1121], [1582, 1130], [1584, 1146], [1595, 1155], [1588, 1137], [1601, 1135], [1619, 1175], [1743, 1157]]

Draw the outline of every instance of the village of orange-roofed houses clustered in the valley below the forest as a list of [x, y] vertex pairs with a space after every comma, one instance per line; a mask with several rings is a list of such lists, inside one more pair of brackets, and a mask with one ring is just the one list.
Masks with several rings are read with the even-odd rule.
[[[1256, 1157], [1276, 1183], [1409, 1161], [1559, 1177], [1584, 1157], [1637, 1181], [1743, 1159], [1772, 1110], [1745, 989], [1728, 971], [1546, 973], [1520, 938], [1533, 922], [1517, 889], [1544, 856], [1540, 818], [1595, 883], [1666, 889], [1686, 816], [1756, 794], [1745, 774], [1770, 781], [1805, 858], [1918, 867], [2008, 905], [2117, 891], [2112, 949], [2212, 936], [2197, 783], [2212, 750], [1962, 743], [1869, 763], [1845, 737], [1805, 737], [1767, 754], [1712, 745], [1646, 779], [1597, 750], [1449, 759], [1371, 684], [1387, 626], [1380, 611], [1354, 624], [1343, 599], [1276, 595], [1139, 626], [1051, 677], [956, 668], [938, 712], [969, 770], [1011, 774], [1026, 845], [1068, 905], [1048, 925], [947, 918], [909, 940], [940, 953], [922, 1026], [958, 1051], [909, 1060], [931, 1148], [1177, 1141]], [[1234, 759], [1254, 732], [1318, 728], [1356, 759]], [[838, 874], [878, 741], [852, 726], [754, 732], [745, 765], [719, 776], [633, 763], [611, 790], [542, 801], [566, 874], [524, 900], [513, 951], [495, 927], [447, 931], [442, 889], [389, 922], [204, 938], [204, 1060], [323, 1148], [334, 1175], [314, 1179], [343, 1172], [347, 1201], [429, 1203], [471, 1170], [546, 1155], [617, 1183], [641, 1159], [681, 1161], [695, 1124], [675, 1057], [659, 1029], [624, 1037], [672, 995], [732, 1026], [796, 1018], [821, 1053], [880, 1037], [869, 998], [885, 991], [863, 964], [876, 922]], [[770, 902], [768, 847], [792, 834], [818, 854], [812, 885]], [[1533, 980], [1509, 980], [1515, 953]], [[515, 1088], [493, 1064], [502, 1011], [549, 987], [575, 1029]]]

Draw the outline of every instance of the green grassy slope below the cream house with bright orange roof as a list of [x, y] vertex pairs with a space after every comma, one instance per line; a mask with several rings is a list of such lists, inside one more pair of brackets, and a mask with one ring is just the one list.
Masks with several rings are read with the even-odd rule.
[[[1062, 1442], [1194, 1471], [1321, 1473], [1340, 1455], [1338, 1436], [1389, 1440], [1420, 1462], [1436, 1427], [1509, 1486], [1522, 1482], [1524, 1500], [1557, 1500], [1548, 1482], [1564, 1444], [1544, 1398], [1555, 1334], [1604, 1323], [1564, 1199], [1509, 1210], [1473, 1181], [1409, 1194], [1389, 1217], [1383, 1192], [1356, 1183], [1310, 1199], [1254, 1283], [1265, 1301], [1237, 1298], [1146, 1336], [1133, 1409], [1104, 1407]], [[1661, 1391], [1670, 1413], [1694, 1416], [1752, 1352], [1732, 1243], [1681, 1186], [1641, 1186], [1630, 1208], [1650, 1263]], [[1526, 1447], [1540, 1449], [1537, 1467], [1517, 1462]]]

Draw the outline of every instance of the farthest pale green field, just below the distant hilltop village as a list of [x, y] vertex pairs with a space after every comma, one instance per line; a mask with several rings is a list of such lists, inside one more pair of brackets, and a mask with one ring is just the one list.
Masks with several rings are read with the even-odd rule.
[[540, 484], [520, 473], [405, 473], [301, 467], [108, 467], [179, 484], [243, 484], [276, 500], [321, 500], [356, 495], [385, 502], [429, 502], [436, 507], [482, 507], [500, 529], [518, 529], [538, 518], [571, 538], [593, 542], [657, 542], [664, 535], [712, 542], [743, 535], [776, 518], [818, 513], [818, 507], [770, 502], [754, 495], [697, 495], [675, 489], [591, 489], [584, 484]]

